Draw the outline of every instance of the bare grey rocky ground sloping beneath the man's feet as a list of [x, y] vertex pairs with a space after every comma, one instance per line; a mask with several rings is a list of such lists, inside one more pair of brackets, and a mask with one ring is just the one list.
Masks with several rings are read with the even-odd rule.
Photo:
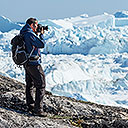
[[26, 112], [25, 85], [0, 76], [0, 128], [128, 128], [128, 109], [54, 96], [47, 92], [47, 117]]

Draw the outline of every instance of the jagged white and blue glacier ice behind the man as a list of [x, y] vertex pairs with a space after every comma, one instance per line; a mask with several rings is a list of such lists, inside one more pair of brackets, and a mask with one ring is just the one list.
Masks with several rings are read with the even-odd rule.
[[[10, 45], [21, 26], [0, 18], [0, 74], [25, 82], [23, 68], [12, 61]], [[48, 91], [128, 107], [128, 26], [122, 18], [84, 14], [40, 23], [49, 25], [44, 35], [46, 46], [41, 50]]]

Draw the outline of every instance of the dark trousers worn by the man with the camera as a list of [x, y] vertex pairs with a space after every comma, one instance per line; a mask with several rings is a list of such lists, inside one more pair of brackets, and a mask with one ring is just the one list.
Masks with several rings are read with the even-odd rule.
[[[35, 104], [35, 111], [43, 109], [43, 97], [45, 95], [45, 75], [41, 65], [25, 65], [26, 72], [26, 104]], [[35, 101], [33, 100], [33, 88], [36, 88]]]

